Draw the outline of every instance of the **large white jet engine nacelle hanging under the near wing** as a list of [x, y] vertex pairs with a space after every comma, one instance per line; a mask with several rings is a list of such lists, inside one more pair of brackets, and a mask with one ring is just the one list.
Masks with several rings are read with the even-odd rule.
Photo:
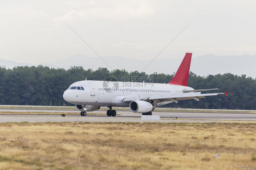
[[155, 107], [150, 102], [145, 102], [142, 100], [133, 100], [130, 102], [130, 110], [132, 112], [147, 113], [154, 111]]

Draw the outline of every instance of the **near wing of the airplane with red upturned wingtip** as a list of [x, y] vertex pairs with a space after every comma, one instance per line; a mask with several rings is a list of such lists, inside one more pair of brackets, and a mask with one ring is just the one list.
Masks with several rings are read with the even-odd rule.
[[138, 97], [138, 98], [130, 98], [125, 97], [123, 98], [123, 102], [132, 102], [133, 100], [144, 100], [144, 101], [154, 101], [154, 104], [161, 103], [161, 102], [175, 102], [178, 103], [179, 100], [188, 100], [188, 99], [194, 99], [196, 101], [199, 101], [200, 98], [205, 98], [206, 96], [216, 96], [220, 94], [225, 94], [227, 96], [227, 92], [221, 92], [221, 93], [205, 93], [201, 94], [201, 92], [186, 92], [181, 93], [180, 95], [175, 96], [161, 96], [161, 97]]

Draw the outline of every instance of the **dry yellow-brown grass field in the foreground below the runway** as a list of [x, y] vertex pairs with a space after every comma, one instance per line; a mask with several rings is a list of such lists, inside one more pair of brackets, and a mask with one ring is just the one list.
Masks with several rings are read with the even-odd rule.
[[0, 169], [256, 170], [256, 124], [2, 123]]

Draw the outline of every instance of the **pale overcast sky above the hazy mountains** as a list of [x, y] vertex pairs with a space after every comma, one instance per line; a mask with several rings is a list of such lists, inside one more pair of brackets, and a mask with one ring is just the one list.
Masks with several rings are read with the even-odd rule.
[[[256, 54], [255, 0], [1, 0], [0, 58], [51, 63], [77, 54], [180, 58]], [[107, 66], [106, 66], [107, 67]]]

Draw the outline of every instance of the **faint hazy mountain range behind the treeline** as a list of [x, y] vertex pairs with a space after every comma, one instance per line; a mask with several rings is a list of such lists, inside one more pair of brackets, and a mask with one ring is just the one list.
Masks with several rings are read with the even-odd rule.
[[[102, 59], [104, 61], [102, 61]], [[104, 56], [89, 57], [86, 55], [76, 55], [67, 59], [60, 60], [53, 63], [16, 63], [14, 61], [8, 61], [0, 59], [0, 66], [5, 68], [14, 68], [16, 66], [37, 66], [43, 65], [50, 68], [65, 68], [68, 69], [72, 66], [82, 66], [84, 69], [91, 68], [96, 70], [97, 68], [111, 69], [125, 69], [128, 72], [137, 70], [138, 72], [150, 73], [169, 73], [172, 74], [177, 71], [181, 63], [181, 59], [173, 58], [156, 58], [152, 63], [152, 59], [139, 60], [129, 59], [119, 56]], [[148, 65], [148, 63], [150, 63]], [[192, 57], [190, 71], [200, 76], [207, 76], [209, 74], [223, 74], [232, 73], [236, 75], [246, 74], [247, 77], [256, 78], [256, 55], [241, 55], [241, 56], [216, 56], [212, 54], [203, 55], [199, 57]], [[109, 66], [111, 67], [109, 67]], [[147, 66], [148, 65], [148, 66]], [[146, 67], [147, 66], [147, 67]], [[145, 69], [144, 69], [145, 68]]]

